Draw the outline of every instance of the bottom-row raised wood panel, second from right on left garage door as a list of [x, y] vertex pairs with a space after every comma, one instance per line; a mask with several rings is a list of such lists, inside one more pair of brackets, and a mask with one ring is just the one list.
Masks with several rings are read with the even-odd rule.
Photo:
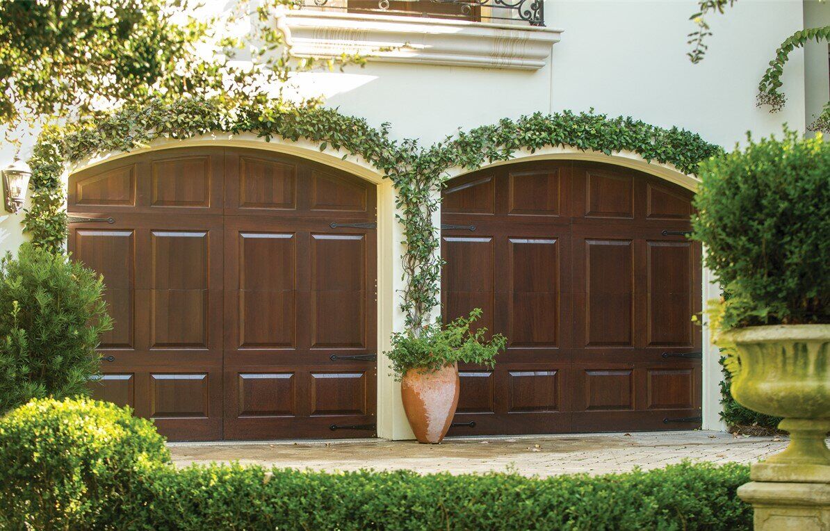
[[240, 373], [240, 417], [294, 416], [294, 373]]

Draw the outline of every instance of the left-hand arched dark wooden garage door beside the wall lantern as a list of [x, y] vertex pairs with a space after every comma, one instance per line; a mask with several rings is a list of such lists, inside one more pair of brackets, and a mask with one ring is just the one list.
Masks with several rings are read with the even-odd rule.
[[69, 250], [115, 319], [95, 395], [173, 440], [374, 436], [375, 204], [359, 178], [241, 149], [71, 176]]

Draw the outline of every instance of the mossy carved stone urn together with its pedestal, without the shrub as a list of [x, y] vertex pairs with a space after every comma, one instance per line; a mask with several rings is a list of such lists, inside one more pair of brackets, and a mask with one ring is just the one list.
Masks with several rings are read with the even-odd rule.
[[789, 446], [752, 465], [738, 494], [754, 507], [756, 531], [830, 529], [830, 324], [754, 326], [721, 334], [735, 345], [732, 396], [784, 417]]

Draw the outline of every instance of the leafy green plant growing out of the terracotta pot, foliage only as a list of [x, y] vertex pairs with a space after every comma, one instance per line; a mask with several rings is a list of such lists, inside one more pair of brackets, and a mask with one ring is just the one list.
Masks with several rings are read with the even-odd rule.
[[417, 334], [411, 329], [392, 334], [392, 350], [386, 355], [392, 362], [395, 378], [403, 378], [411, 368], [434, 372], [457, 362], [481, 363], [492, 368], [496, 354], [504, 350], [507, 340], [496, 334], [485, 341], [487, 329], [471, 330], [479, 317], [481, 309], [476, 308], [468, 317], [459, 317], [444, 326], [437, 319], [418, 329]]

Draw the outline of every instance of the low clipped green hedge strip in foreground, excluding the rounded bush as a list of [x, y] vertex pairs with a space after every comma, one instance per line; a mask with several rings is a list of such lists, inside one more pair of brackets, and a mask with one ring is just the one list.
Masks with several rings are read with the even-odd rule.
[[[744, 465], [671, 465], [619, 475], [326, 474], [259, 466], [162, 468], [137, 489], [120, 529], [751, 528], [735, 494]], [[139, 480], [140, 481], [140, 480]]]

